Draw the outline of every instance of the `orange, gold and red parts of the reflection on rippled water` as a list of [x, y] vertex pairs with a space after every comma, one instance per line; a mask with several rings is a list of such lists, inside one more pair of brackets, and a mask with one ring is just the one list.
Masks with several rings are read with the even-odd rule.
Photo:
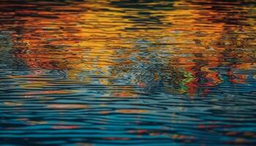
[[[180, 93], [193, 96], [202, 86], [211, 87], [222, 82], [219, 71], [214, 70], [219, 66], [230, 66], [233, 69], [250, 69], [255, 66], [255, 63], [252, 64], [255, 56], [249, 50], [254, 44], [246, 41], [248, 35], [245, 35], [255, 30], [255, 26], [239, 25], [254, 24], [255, 20], [246, 18], [249, 13], [239, 2], [222, 4], [221, 10], [212, 7], [212, 3], [203, 0], [173, 1], [173, 10], [147, 9], [149, 15], [146, 16], [140, 15], [143, 10], [116, 7], [111, 1], [99, 1], [97, 4], [78, 2], [79, 7], [55, 6], [49, 12], [18, 10], [16, 13], [37, 13], [43, 17], [15, 18], [20, 21], [25, 19], [23, 23], [15, 23], [15, 26], [33, 30], [19, 34], [21, 37], [14, 40], [24, 44], [19, 46], [15, 56], [23, 59], [31, 69], [67, 70], [71, 80], [82, 77], [86, 83], [97, 80], [101, 85], [115, 85], [115, 82], [109, 80], [111, 77], [124, 77], [130, 72], [129, 67], [120, 71], [121, 65], [138, 64], [130, 58], [135, 57], [140, 63], [151, 66], [150, 58], [135, 56], [140, 50], [133, 48], [146, 46], [146, 53], [164, 50], [170, 56], [165, 57], [165, 60], [159, 59], [167, 64], [162, 72], [172, 70], [172, 74], [165, 75], [173, 78], [165, 81], [164, 85], [170, 82], [178, 84]], [[100, 7], [109, 11], [99, 10]], [[243, 13], [237, 12], [235, 8], [242, 9]], [[128, 17], [131, 14], [138, 19], [155, 17], [160, 23], [138, 25], [138, 22]], [[10, 12], [9, 15], [15, 16], [15, 13]], [[236, 21], [236, 24], [229, 21]], [[145, 40], [146, 44], [143, 45], [140, 40]], [[152, 44], [156, 45], [153, 48], [147, 47]], [[227, 61], [226, 58], [236, 59], [239, 63]], [[88, 74], [104, 77], [87, 77]], [[246, 79], [245, 75], [234, 74], [232, 71], [228, 76], [231, 82], [243, 83]], [[152, 77], [154, 81], [161, 79], [157, 73]], [[140, 77], [130, 79], [129, 84], [143, 87], [148, 85]], [[202, 92], [208, 91], [204, 89]], [[131, 90], [110, 91], [110, 94], [117, 97], [136, 96]]]

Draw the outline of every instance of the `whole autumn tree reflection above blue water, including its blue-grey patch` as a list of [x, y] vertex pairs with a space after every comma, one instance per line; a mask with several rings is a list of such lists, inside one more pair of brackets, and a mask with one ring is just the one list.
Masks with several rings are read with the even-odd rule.
[[242, 1], [29, 1], [14, 7], [1, 4], [1, 19], [11, 23], [1, 22], [0, 29], [15, 31], [12, 55], [24, 67], [62, 70], [69, 80], [192, 96], [225, 80], [222, 74], [245, 82], [246, 74], [233, 71], [255, 66], [255, 8]]

